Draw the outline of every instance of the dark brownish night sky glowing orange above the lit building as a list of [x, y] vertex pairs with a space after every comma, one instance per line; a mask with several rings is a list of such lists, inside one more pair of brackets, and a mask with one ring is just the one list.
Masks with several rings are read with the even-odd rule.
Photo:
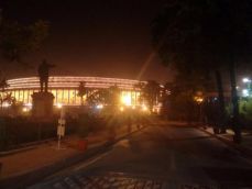
[[[50, 37], [41, 51], [26, 57], [37, 65], [44, 57], [54, 75], [171, 79], [158, 57], [152, 56], [151, 21], [164, 0], [6, 0], [3, 16], [51, 22]], [[153, 58], [150, 58], [152, 56]], [[146, 70], [144, 64], [150, 62]], [[146, 64], [147, 65], [147, 64]], [[9, 77], [35, 75], [32, 69], [9, 66]], [[141, 71], [142, 70], [142, 71]], [[142, 75], [140, 73], [143, 73]], [[141, 76], [141, 77], [140, 77]]]

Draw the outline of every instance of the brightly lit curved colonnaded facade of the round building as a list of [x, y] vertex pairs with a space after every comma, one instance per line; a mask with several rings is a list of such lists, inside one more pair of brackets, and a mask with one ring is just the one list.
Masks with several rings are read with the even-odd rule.
[[[121, 102], [124, 105], [138, 105], [140, 91], [134, 86], [138, 80], [102, 78], [102, 77], [70, 77], [57, 76], [50, 77], [48, 91], [55, 97], [54, 104], [63, 105], [80, 105], [80, 97], [78, 97], [79, 82], [85, 81], [87, 96], [90, 92], [117, 86], [121, 91]], [[39, 77], [18, 78], [8, 80], [9, 87], [6, 89], [19, 102], [24, 104], [32, 103], [32, 93], [39, 92]], [[86, 96], [84, 97], [86, 99]]]

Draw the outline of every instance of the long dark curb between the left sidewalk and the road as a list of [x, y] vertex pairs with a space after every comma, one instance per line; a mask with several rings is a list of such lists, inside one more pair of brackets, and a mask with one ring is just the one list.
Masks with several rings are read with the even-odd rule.
[[102, 143], [101, 145], [94, 146], [92, 148], [89, 148], [79, 155], [62, 159], [62, 160], [56, 162], [54, 164], [46, 165], [44, 167], [31, 170], [31, 171], [23, 174], [23, 175], [20, 175], [20, 176], [14, 176], [14, 177], [2, 179], [2, 180], [0, 180], [0, 188], [2, 188], [2, 189], [3, 188], [14, 189], [14, 188], [26, 188], [29, 186], [32, 186], [35, 182], [39, 182], [43, 178], [45, 178], [45, 177], [47, 177], [47, 176], [50, 176], [56, 171], [61, 171], [61, 170], [63, 170], [69, 166], [78, 164], [79, 162], [90, 159], [91, 157], [94, 157], [98, 154], [101, 154], [101, 153], [109, 151], [112, 147], [112, 145], [114, 145], [119, 141], [127, 138], [128, 136], [130, 136], [130, 135], [132, 135], [139, 131], [142, 131], [145, 127], [146, 126], [142, 126], [141, 129], [132, 131], [131, 133], [121, 135], [118, 138], [114, 138], [114, 141], [107, 141], [107, 142]]

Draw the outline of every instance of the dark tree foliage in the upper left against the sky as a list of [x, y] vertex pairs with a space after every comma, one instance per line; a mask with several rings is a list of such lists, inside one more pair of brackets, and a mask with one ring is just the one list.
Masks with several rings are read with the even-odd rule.
[[22, 57], [41, 47], [48, 35], [50, 24], [39, 20], [32, 24], [21, 24], [3, 19], [0, 14], [0, 51], [11, 62], [23, 63]]

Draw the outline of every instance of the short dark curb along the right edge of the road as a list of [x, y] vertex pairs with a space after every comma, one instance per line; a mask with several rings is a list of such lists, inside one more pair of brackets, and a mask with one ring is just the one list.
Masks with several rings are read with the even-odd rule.
[[239, 153], [241, 153], [240, 155], [245, 157], [245, 158], [251, 158], [252, 159], [252, 151], [249, 148], [249, 147], [244, 147], [244, 146], [241, 146], [239, 144], [235, 144], [233, 143], [232, 141], [228, 140], [228, 138], [224, 138], [224, 137], [221, 137], [219, 135], [216, 135], [216, 134], [212, 134], [201, 127], [197, 127], [199, 131], [202, 131], [213, 137], [216, 137], [217, 140], [221, 141], [222, 143], [227, 144], [228, 146], [234, 148], [235, 151], [238, 151]]

